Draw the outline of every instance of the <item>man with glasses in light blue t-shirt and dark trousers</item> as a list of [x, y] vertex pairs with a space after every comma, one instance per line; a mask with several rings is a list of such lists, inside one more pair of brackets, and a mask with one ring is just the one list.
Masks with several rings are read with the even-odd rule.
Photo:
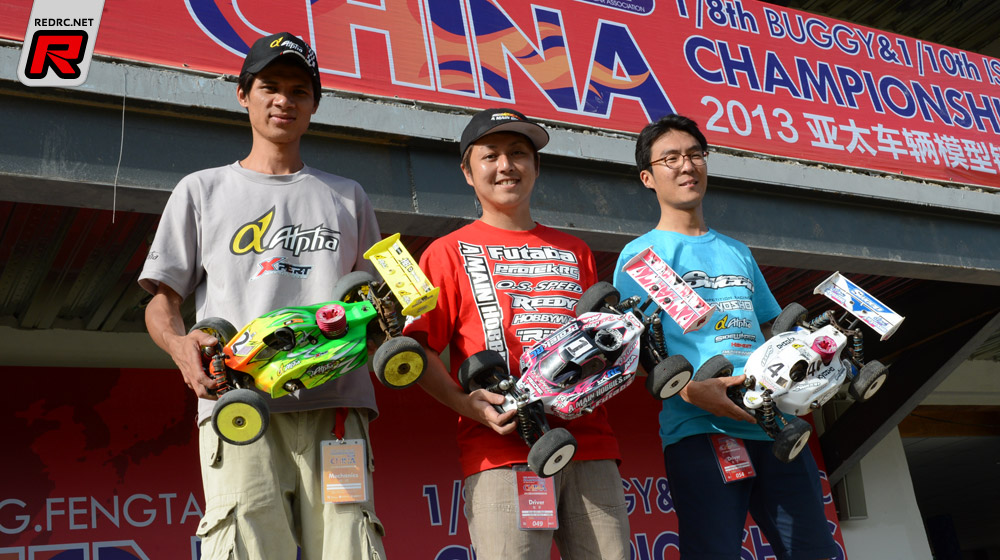
[[[683, 400], [663, 401], [660, 439], [681, 558], [739, 558], [748, 512], [779, 560], [832, 558], [839, 549], [827, 528], [812, 455], [779, 461], [753, 416], [726, 396], [728, 387], [743, 382], [747, 356], [770, 335], [769, 323], [781, 309], [747, 246], [705, 223], [707, 150], [698, 125], [679, 115], [663, 117], [639, 134], [636, 167], [642, 184], [656, 195], [660, 220], [625, 246], [614, 278], [622, 299], [645, 298], [622, 267], [652, 246], [718, 308], [707, 325], [686, 335], [664, 314], [669, 352], [683, 354], [695, 368], [718, 354], [734, 366], [731, 377], [691, 382], [680, 393]], [[734, 457], [746, 466], [724, 469]]]

